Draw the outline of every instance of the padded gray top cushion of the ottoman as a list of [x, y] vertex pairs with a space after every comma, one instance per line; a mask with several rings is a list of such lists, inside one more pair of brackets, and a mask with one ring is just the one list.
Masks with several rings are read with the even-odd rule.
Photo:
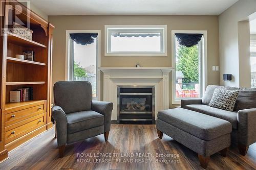
[[159, 111], [157, 117], [203, 140], [212, 140], [232, 131], [226, 120], [182, 108]]

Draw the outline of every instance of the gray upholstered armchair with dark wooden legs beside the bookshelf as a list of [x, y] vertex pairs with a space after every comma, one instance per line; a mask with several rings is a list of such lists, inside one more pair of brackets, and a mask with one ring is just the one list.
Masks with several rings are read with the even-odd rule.
[[53, 87], [52, 117], [59, 155], [66, 144], [104, 133], [108, 140], [113, 103], [92, 101], [92, 85], [87, 81], [60, 81]]

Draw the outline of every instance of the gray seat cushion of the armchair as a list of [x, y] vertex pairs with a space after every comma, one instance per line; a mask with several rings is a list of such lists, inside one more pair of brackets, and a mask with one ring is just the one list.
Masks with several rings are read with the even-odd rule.
[[67, 114], [68, 134], [103, 125], [104, 116], [95, 111], [80, 111]]

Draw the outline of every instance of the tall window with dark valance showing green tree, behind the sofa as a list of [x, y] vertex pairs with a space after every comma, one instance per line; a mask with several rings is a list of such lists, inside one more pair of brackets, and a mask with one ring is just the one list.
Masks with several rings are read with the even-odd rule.
[[178, 104], [184, 98], [200, 98], [207, 84], [206, 31], [172, 31], [172, 38], [172, 103]]

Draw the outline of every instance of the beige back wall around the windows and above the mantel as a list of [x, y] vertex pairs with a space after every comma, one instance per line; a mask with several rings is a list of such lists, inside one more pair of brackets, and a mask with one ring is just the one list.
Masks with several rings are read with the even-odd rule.
[[[211, 70], [212, 66], [219, 65], [218, 16], [86, 15], [49, 16], [48, 19], [56, 27], [53, 32], [53, 84], [65, 80], [66, 30], [101, 30], [101, 66], [135, 66], [140, 63], [144, 67], [172, 65], [172, 30], [207, 30], [208, 84], [219, 84], [219, 71]], [[104, 25], [167, 25], [168, 56], [104, 56]]]

